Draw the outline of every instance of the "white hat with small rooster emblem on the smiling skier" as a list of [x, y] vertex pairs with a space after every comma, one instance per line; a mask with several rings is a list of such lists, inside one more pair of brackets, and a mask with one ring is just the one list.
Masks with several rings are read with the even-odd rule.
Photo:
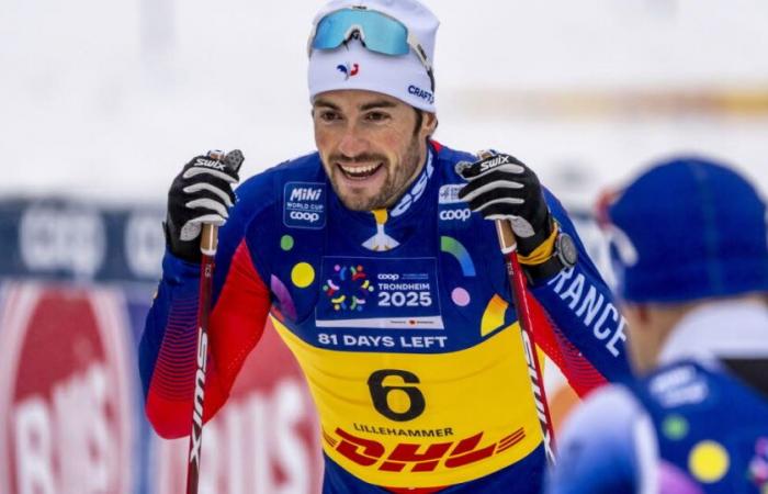
[[[316, 35], [321, 32], [318, 23], [324, 18], [338, 11], [353, 13], [383, 14], [383, 22], [371, 25], [365, 31], [363, 19], [358, 23], [354, 18], [342, 19], [334, 27], [346, 30], [350, 34], [360, 26], [361, 38], [347, 40], [347, 43], [332, 43], [330, 49], [313, 46]], [[386, 20], [399, 22], [403, 40], [407, 45], [399, 54], [388, 54], [372, 49], [375, 37], [391, 36], [386, 32]], [[347, 22], [348, 24], [343, 24]], [[340, 25], [342, 24], [342, 25]], [[427, 7], [416, 0], [334, 0], [326, 4], [315, 16], [314, 29], [309, 40], [309, 98], [321, 92], [338, 89], [363, 89], [397, 98], [405, 103], [427, 112], [434, 112], [434, 78], [432, 63], [434, 59], [434, 38], [440, 22]], [[327, 32], [327, 31], [326, 31]], [[336, 42], [339, 40], [337, 38]], [[385, 40], [391, 42], [392, 40]], [[364, 47], [368, 46], [368, 49]]]

